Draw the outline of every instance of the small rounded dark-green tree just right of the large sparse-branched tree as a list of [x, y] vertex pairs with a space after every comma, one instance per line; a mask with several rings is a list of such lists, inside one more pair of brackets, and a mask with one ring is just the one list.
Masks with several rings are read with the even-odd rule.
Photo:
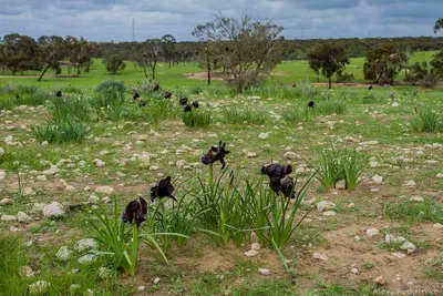
[[332, 88], [333, 74], [343, 72], [350, 63], [346, 49], [338, 43], [323, 43], [308, 53], [309, 67], [328, 79], [329, 89]]

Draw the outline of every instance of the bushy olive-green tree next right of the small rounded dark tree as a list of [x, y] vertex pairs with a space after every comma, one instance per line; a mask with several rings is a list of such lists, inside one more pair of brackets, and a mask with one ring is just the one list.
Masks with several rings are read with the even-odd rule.
[[367, 53], [363, 65], [364, 79], [374, 83], [392, 83], [406, 64], [408, 54], [395, 43], [381, 44]]

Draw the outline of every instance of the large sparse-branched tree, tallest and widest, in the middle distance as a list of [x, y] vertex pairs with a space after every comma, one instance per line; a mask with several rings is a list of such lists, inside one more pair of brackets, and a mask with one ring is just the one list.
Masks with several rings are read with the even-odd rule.
[[206, 63], [208, 78], [213, 65], [219, 64], [225, 70], [224, 80], [241, 92], [259, 85], [280, 62], [282, 30], [270, 21], [247, 14], [240, 19], [218, 14], [214, 22], [198, 24], [193, 35], [203, 43], [199, 55]]

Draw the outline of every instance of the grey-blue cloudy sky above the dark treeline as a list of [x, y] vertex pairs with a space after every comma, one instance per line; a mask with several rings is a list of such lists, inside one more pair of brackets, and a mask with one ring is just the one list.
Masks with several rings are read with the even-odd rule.
[[285, 27], [287, 39], [433, 35], [443, 0], [0, 0], [0, 35], [18, 32], [142, 41], [241, 12]]

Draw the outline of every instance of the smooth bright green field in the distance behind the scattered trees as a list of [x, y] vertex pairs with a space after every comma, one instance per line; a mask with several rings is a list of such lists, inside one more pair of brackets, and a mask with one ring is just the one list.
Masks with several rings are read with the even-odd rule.
[[[410, 63], [431, 61], [432, 57], [436, 52], [427, 51], [427, 52], [416, 52], [410, 59]], [[356, 78], [354, 82], [365, 82], [363, 80], [363, 64], [364, 58], [351, 59], [351, 63], [347, 67], [346, 72], [352, 73]], [[11, 78], [10, 72], [1, 72], [0, 71], [0, 85], [8, 83], [11, 79], [17, 81], [20, 79], [20, 83], [22, 84], [37, 84], [41, 85], [45, 89], [55, 89], [61, 86], [79, 86], [79, 88], [87, 88], [92, 89], [99, 83], [106, 80], [121, 80], [126, 84], [136, 84], [140, 81], [144, 80], [144, 74], [140, 68], [137, 68], [138, 72], [135, 71], [135, 68], [132, 62], [127, 62], [126, 68], [115, 75], [106, 72], [106, 69], [102, 64], [101, 60], [94, 60], [90, 73], [82, 73], [79, 78], [55, 78], [53, 71], [49, 71], [47, 75], [43, 78], [43, 81], [38, 83], [37, 79], [40, 75], [40, 72], [28, 71], [23, 73], [23, 76], [20, 74], [16, 78]], [[167, 88], [173, 86], [195, 86], [195, 85], [206, 85], [206, 81], [187, 79], [186, 73], [200, 73], [203, 70], [197, 67], [195, 63], [186, 63], [186, 65], [179, 64], [172, 68], [168, 68], [166, 64], [159, 63], [157, 67], [156, 75], [157, 80], [162, 82], [162, 85]], [[279, 64], [275, 72], [277, 74], [272, 74], [269, 79], [269, 82], [281, 82], [285, 84], [293, 84], [299, 83], [300, 81], [310, 81], [317, 82], [317, 75], [309, 69], [309, 64], [307, 61], [284, 61]], [[148, 72], [150, 73], [150, 72]], [[69, 75], [68, 70], [63, 69], [63, 76]], [[30, 78], [31, 76], [31, 78]], [[398, 80], [402, 80], [404, 76], [404, 72], [400, 73]], [[327, 82], [327, 80], [320, 75], [320, 82]], [[214, 81], [214, 84], [220, 84], [220, 81]]]

